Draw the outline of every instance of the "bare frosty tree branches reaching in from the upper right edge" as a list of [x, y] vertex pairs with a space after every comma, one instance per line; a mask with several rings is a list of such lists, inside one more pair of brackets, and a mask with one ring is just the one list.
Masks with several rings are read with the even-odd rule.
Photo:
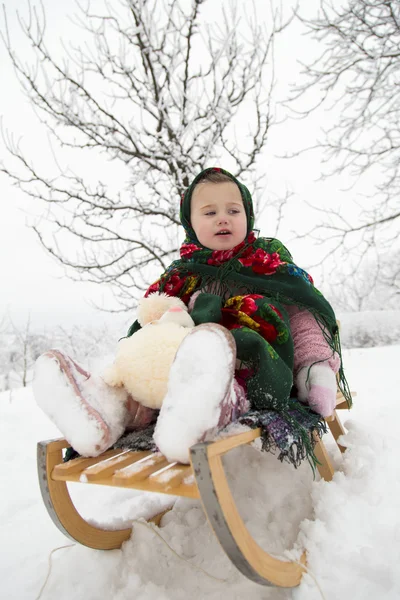
[[[292, 107], [303, 114], [332, 109], [317, 146], [325, 150], [326, 174], [362, 178], [370, 189], [357, 198], [357, 211], [325, 211], [314, 236], [328, 253], [365, 257], [382, 245], [386, 252], [400, 225], [400, 3], [321, 0], [318, 16], [299, 18], [317, 40], [318, 56], [304, 65]], [[310, 92], [314, 99], [318, 92], [317, 105]]]

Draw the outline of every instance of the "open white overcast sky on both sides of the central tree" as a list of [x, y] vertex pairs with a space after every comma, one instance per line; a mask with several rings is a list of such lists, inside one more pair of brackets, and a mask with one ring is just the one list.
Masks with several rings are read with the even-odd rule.
[[[317, 5], [314, 0], [312, 2]], [[68, 39], [70, 24], [66, 15], [74, 12], [75, 2], [45, 0], [43, 4], [48, 30], [51, 33], [49, 45], [53, 46], [57, 44], [59, 36]], [[263, 2], [259, 0], [258, 4], [262, 6]], [[16, 24], [15, 11], [18, 9], [21, 14], [27, 15], [28, 4], [21, 0], [5, 0], [5, 7], [10, 33], [15, 40], [14, 44], [18, 44], [20, 56], [24, 56], [24, 40]], [[1, 29], [4, 30], [3, 21]], [[283, 52], [279, 55], [276, 69], [279, 85], [284, 81], [292, 81], [293, 77], [297, 76], [296, 57], [302, 54], [302, 49], [305, 52], [308, 50], [306, 44], [308, 42], [304, 38], [298, 36], [296, 39], [291, 33], [287, 47], [282, 48]], [[29, 54], [25, 56], [29, 61]], [[38, 126], [28, 101], [21, 93], [3, 45], [0, 46], [0, 65], [3, 80], [0, 114], [4, 127], [13, 132], [17, 139], [22, 138], [23, 147], [28, 150], [27, 154], [30, 152], [31, 156], [34, 156], [36, 164], [40, 164], [40, 160], [49, 160], [45, 131]], [[332, 204], [346, 198], [338, 187], [343, 186], [343, 181], [315, 183], [320, 169], [318, 156], [315, 153], [290, 162], [273, 157], [274, 153], [282, 154], [286, 149], [293, 149], [299, 140], [311, 143], [318, 130], [315, 121], [316, 118], [313, 117], [307, 123], [290, 122], [271, 130], [265, 164], [260, 165], [260, 172], [265, 169], [267, 173], [269, 193], [281, 193], [285, 189], [295, 192], [293, 209], [280, 233], [281, 239], [286, 243], [293, 237], [291, 231], [299, 225], [304, 227], [305, 220], [310, 218], [305, 215], [303, 209], [295, 209], [296, 206], [301, 206], [303, 200], [311, 200], [317, 204], [322, 202]], [[0, 142], [0, 157], [7, 159], [2, 142]], [[93, 167], [93, 164], [90, 166]], [[12, 187], [4, 175], [0, 175], [0, 197], [0, 273], [3, 282], [0, 294], [0, 320], [7, 311], [12, 314], [14, 320], [19, 322], [25, 321], [30, 315], [31, 322], [37, 325], [103, 320], [104, 313], [98, 313], [90, 306], [90, 302], [102, 304], [109, 293], [106, 286], [75, 283], [66, 278], [62, 267], [47, 256], [35, 233], [29, 228], [29, 224], [38, 216], [38, 207]], [[258, 223], [264, 235], [271, 234], [271, 231], [268, 231], [268, 216], [267, 210]], [[293, 244], [288, 245], [295, 254], [296, 262], [303, 265], [312, 262], [308, 260], [309, 252], [315, 253], [312, 245], [295, 244], [295, 252], [293, 252]], [[128, 322], [132, 320], [128, 315], [126, 319]]]

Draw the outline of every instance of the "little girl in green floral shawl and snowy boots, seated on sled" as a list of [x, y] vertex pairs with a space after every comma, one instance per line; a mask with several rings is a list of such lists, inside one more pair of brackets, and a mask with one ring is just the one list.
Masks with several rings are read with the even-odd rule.
[[[194, 179], [181, 223], [180, 260], [146, 292], [180, 297], [196, 324], [177, 351], [159, 414], [55, 350], [36, 364], [38, 404], [86, 456], [156, 421], [159, 450], [188, 462], [193, 444], [239, 419], [261, 426], [281, 459], [313, 458], [310, 433], [335, 407], [338, 372], [351, 401], [331, 306], [281, 242], [256, 237], [251, 195], [227, 171]], [[135, 321], [128, 336], [139, 328]]]

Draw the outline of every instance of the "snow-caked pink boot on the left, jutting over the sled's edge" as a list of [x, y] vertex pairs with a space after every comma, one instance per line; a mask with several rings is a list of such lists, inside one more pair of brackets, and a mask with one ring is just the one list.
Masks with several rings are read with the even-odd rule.
[[82, 369], [60, 350], [37, 359], [35, 400], [82, 456], [98, 456], [122, 435], [128, 395]]

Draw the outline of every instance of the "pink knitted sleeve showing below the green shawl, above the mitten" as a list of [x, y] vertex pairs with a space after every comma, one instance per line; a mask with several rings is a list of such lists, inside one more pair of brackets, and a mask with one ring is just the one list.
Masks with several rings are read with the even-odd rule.
[[338, 372], [340, 357], [333, 352], [313, 315], [297, 306], [285, 306], [289, 314], [290, 329], [294, 344], [294, 368], [296, 374], [301, 367], [325, 360], [332, 371]]

